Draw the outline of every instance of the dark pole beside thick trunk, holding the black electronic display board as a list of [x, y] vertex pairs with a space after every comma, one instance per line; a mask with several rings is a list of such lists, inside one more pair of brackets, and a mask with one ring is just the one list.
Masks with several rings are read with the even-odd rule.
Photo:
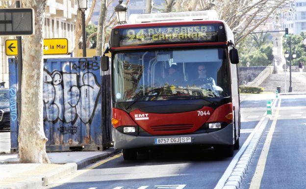
[[[16, 7], [20, 8], [20, 0], [16, 1]], [[21, 119], [21, 82], [22, 82], [22, 37], [17, 37], [17, 53], [18, 53], [18, 91], [17, 91], [17, 113], [18, 113], [18, 124], [20, 124]]]

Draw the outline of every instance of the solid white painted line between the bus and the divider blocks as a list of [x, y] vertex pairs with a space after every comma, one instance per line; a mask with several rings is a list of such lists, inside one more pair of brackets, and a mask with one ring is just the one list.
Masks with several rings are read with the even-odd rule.
[[243, 143], [243, 145], [241, 146], [240, 150], [237, 152], [237, 154], [234, 156], [234, 158], [231, 160], [231, 162], [229, 163], [228, 168], [225, 170], [225, 172], [223, 173], [222, 177], [220, 178], [220, 180], [218, 181], [216, 187], [214, 189], [222, 189], [225, 182], [228, 180], [229, 175], [231, 174], [233, 168], [235, 167], [235, 165], [237, 164], [240, 156], [242, 155], [242, 153], [245, 151], [245, 149], [248, 147], [250, 141], [252, 140], [253, 136], [255, 135], [255, 133], [258, 131], [258, 128], [260, 127], [260, 125], [262, 124], [263, 120], [265, 119], [267, 115], [267, 112], [265, 112], [262, 115], [262, 118], [260, 119], [260, 121], [257, 123], [255, 129], [253, 130], [253, 132], [248, 136], [248, 138], [246, 139], [246, 141]]

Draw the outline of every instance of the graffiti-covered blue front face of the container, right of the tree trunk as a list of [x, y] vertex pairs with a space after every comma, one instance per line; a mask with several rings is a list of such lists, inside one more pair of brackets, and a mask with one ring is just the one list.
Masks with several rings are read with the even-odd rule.
[[44, 126], [50, 145], [101, 144], [100, 59], [44, 63]]

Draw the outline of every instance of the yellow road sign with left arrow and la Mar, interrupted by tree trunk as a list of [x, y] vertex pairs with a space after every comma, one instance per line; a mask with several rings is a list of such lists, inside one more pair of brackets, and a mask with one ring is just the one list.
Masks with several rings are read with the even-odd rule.
[[[8, 56], [17, 56], [17, 39], [5, 41], [5, 53]], [[68, 54], [68, 39], [54, 38], [44, 39], [44, 54]]]

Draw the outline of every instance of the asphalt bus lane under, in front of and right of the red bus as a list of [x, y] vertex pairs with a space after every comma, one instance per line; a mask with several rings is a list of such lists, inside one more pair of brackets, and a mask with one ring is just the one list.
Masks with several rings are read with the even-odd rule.
[[[265, 106], [266, 100], [242, 102], [240, 145], [265, 113]], [[59, 183], [64, 184], [53, 189], [213, 189], [231, 160], [218, 158], [211, 149], [159, 151], [132, 162], [119, 156], [86, 173], [78, 171], [83, 174], [62, 180]], [[167, 186], [158, 187], [163, 185]]]

